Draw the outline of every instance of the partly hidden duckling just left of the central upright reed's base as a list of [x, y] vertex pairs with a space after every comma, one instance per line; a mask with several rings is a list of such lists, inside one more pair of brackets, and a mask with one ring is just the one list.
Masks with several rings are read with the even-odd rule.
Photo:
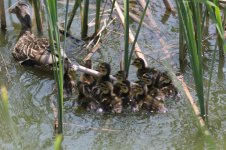
[[117, 79], [116, 82], [114, 83], [114, 88], [113, 88], [113, 93], [116, 95], [120, 94], [120, 87], [121, 87], [121, 83], [126, 80], [126, 73], [125, 71], [118, 71], [114, 77]]

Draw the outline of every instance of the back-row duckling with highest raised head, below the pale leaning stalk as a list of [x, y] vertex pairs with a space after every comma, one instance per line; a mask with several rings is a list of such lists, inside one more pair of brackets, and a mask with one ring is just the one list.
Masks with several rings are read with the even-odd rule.
[[141, 79], [141, 77], [143, 76], [143, 74], [145, 73], [151, 73], [153, 78], [157, 78], [159, 71], [155, 68], [149, 68], [145, 66], [145, 62], [142, 58], [136, 58], [132, 65], [134, 65], [135, 67], [137, 67], [137, 78]]

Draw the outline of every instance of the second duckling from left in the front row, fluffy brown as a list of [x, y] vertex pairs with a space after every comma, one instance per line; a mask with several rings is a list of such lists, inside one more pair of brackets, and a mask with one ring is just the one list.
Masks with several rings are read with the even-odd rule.
[[100, 83], [100, 103], [104, 111], [107, 112], [122, 112], [122, 100], [118, 96], [113, 94], [113, 85], [109, 81], [103, 81]]

